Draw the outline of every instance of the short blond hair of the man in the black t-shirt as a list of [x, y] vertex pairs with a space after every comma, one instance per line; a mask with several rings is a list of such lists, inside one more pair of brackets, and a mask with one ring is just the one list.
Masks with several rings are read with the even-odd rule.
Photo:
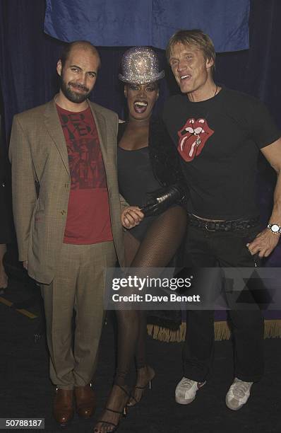
[[215, 47], [210, 36], [203, 33], [202, 30], [178, 30], [172, 37], [169, 38], [169, 42], [166, 48], [166, 56], [169, 62], [171, 57], [172, 48], [176, 44], [183, 45], [196, 45], [199, 50], [203, 52], [205, 59], [213, 60], [214, 64], [211, 68], [212, 71], [215, 69]]

